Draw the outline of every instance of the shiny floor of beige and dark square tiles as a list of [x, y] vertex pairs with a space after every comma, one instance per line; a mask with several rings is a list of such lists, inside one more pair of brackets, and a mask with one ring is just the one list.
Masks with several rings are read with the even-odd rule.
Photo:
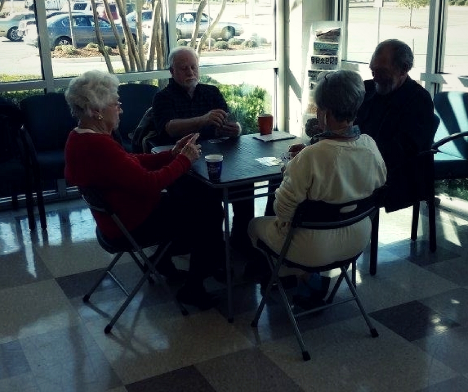
[[[110, 260], [83, 202], [48, 205], [48, 229], [35, 233], [25, 211], [1, 212], [0, 391], [468, 391], [468, 215], [443, 206], [434, 254], [426, 217], [412, 243], [410, 210], [381, 213], [377, 275], [367, 253], [357, 275], [380, 336], [370, 337], [353, 303], [327, 309], [299, 324], [309, 362], [278, 303], [250, 327], [259, 287], [242, 281], [238, 256], [234, 323], [215, 281], [207, 284], [220, 307], [185, 317], [160, 285], [145, 284], [106, 335], [124, 296], [105, 281], [82, 302]], [[125, 283], [139, 276], [129, 259], [118, 273]]]

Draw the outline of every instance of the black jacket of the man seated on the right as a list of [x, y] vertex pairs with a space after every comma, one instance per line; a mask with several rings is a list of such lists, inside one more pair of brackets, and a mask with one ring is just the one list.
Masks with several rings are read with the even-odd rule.
[[434, 105], [429, 92], [410, 77], [394, 92], [381, 96], [367, 80], [365, 97], [354, 121], [376, 142], [387, 166], [387, 212], [421, 199], [424, 189], [416, 156], [431, 148]]

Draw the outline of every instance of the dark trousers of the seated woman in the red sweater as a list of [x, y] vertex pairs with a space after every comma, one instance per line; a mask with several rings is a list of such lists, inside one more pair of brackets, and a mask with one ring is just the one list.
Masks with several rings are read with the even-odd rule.
[[203, 184], [188, 176], [180, 180], [162, 194], [156, 208], [131, 234], [146, 246], [171, 239], [173, 256], [190, 253], [187, 284], [196, 286], [226, 265], [224, 212], [220, 196], [209, 192], [211, 188], [195, 190], [192, 186]]

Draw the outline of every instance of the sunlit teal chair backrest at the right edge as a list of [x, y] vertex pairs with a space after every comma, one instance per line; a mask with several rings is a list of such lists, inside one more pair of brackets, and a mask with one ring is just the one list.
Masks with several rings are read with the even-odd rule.
[[[468, 93], [444, 91], [434, 96], [434, 109], [441, 119], [435, 141], [454, 133], [468, 131]], [[459, 138], [440, 147], [440, 151], [468, 159], [468, 138]]]

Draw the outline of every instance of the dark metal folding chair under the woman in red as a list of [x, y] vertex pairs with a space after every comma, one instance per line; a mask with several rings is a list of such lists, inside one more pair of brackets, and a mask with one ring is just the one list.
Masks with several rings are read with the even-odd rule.
[[[107, 205], [107, 203], [102, 199], [99, 193], [97, 193], [95, 190], [83, 189], [83, 188], [80, 188], [79, 191], [81, 195], [83, 196], [83, 199], [85, 200], [86, 204], [92, 211], [97, 211], [97, 212], [104, 213], [104, 214], [111, 216], [114, 222], [117, 224], [120, 231], [122, 232], [122, 234], [125, 236], [125, 240], [120, 241], [119, 244], [116, 245], [114, 243], [111, 243], [105, 237], [105, 235], [102, 233], [102, 231], [99, 229], [98, 226], [96, 227], [96, 237], [98, 239], [99, 245], [101, 245], [101, 247], [105, 251], [111, 254], [115, 254], [116, 256], [113, 258], [113, 260], [111, 261], [111, 264], [109, 264], [109, 266], [106, 268], [106, 270], [98, 279], [98, 281], [93, 285], [90, 291], [87, 294], [85, 294], [85, 296], [83, 297], [83, 302], [89, 302], [91, 295], [94, 293], [94, 291], [98, 288], [101, 282], [108, 275], [114, 280], [114, 282], [116, 282], [117, 286], [127, 296], [127, 298], [122, 303], [120, 308], [117, 310], [117, 313], [114, 315], [112, 320], [109, 322], [106, 328], [104, 328], [104, 332], [105, 333], [111, 332], [111, 329], [114, 326], [114, 324], [117, 322], [117, 319], [126, 309], [130, 301], [133, 299], [135, 294], [140, 290], [141, 286], [146, 280], [148, 281], [148, 283], [154, 284], [154, 281], [151, 277], [152, 274], [154, 274], [157, 277], [157, 279], [162, 283], [167, 293], [174, 299], [174, 301], [176, 301], [182, 314], [184, 316], [187, 315], [188, 314], [187, 309], [179, 301], [177, 301], [177, 299], [172, 294], [171, 290], [167, 286], [164, 279], [162, 279], [162, 277], [156, 271], [157, 264], [163, 258], [164, 254], [167, 252], [172, 242], [170, 240], [160, 241], [160, 242], [154, 241], [154, 243], [151, 243], [151, 244], [139, 245], [135, 241], [135, 239], [131, 236], [131, 234], [128, 232], [128, 230], [125, 228], [125, 226], [122, 224], [117, 214], [109, 207], [109, 205]], [[156, 250], [154, 260], [149, 260], [146, 254], [144, 253], [143, 248], [154, 246], [154, 245], [158, 245], [158, 248]], [[138, 281], [136, 286], [131, 290], [130, 293], [125, 289], [123, 284], [117, 279], [117, 277], [112, 272], [112, 269], [117, 264], [117, 261], [120, 259], [120, 257], [124, 253], [128, 253], [131, 256], [131, 258], [135, 261], [138, 268], [143, 273], [143, 276]]]

